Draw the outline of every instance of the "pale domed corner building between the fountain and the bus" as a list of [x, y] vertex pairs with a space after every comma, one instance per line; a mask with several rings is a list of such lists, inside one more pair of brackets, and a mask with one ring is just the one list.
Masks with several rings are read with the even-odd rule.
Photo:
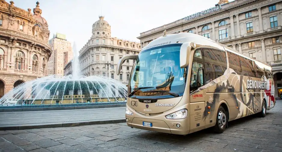
[[137, 55], [140, 49], [140, 43], [111, 37], [111, 26], [104, 16], [99, 16], [99, 20], [92, 25], [92, 37], [79, 51], [81, 74], [109, 76], [127, 84], [133, 60], [125, 61], [119, 76], [115, 74], [116, 66], [124, 55]]

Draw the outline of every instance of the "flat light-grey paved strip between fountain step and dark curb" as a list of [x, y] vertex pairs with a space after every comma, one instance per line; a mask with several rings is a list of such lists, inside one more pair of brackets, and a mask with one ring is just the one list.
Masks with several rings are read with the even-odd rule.
[[[0, 130], [24, 130], [121, 123], [126, 122], [124, 112], [125, 107], [0, 112]], [[105, 129], [109, 130], [108, 128]]]

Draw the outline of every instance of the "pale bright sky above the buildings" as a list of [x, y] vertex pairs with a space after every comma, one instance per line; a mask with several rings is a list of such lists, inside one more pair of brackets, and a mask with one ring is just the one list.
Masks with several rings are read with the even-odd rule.
[[[7, 0], [6, 0], [7, 1]], [[36, 0], [13, 0], [24, 10]], [[38, 0], [41, 16], [49, 25], [50, 37], [66, 34], [79, 51], [92, 35], [92, 25], [102, 14], [111, 25], [111, 36], [140, 42], [140, 33], [214, 7], [219, 0]], [[231, 0], [233, 1], [233, 0]], [[8, 1], [7, 1], [8, 2]], [[229, 1], [230, 2], [230, 1]]]

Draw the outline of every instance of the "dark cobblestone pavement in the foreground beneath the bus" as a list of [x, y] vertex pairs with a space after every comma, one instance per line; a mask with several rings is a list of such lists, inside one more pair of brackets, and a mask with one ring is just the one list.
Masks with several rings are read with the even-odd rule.
[[232, 121], [222, 134], [202, 130], [187, 136], [169, 135], [121, 124], [0, 131], [0, 152], [107, 151], [282, 151], [282, 100], [265, 118]]

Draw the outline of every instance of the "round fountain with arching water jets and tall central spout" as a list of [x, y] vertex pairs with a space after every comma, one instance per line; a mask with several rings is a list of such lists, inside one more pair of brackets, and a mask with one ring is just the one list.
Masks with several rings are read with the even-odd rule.
[[115, 79], [80, 76], [78, 52], [73, 44], [72, 75], [46, 76], [22, 83], [0, 99], [2, 106], [76, 104], [125, 101], [127, 88]]

